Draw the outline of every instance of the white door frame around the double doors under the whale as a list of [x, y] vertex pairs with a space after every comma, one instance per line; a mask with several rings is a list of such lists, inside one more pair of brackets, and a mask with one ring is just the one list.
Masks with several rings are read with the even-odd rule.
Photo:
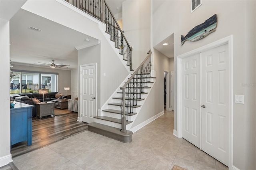
[[206, 51], [208, 49], [212, 49], [218, 47], [220, 45], [224, 45], [228, 43], [228, 61], [229, 61], [229, 130], [228, 130], [228, 140], [229, 140], [229, 169], [232, 169], [233, 166], [233, 36], [228, 36], [216, 42], [210, 43], [203, 47], [199, 47], [198, 49], [194, 49], [187, 53], [177, 56], [177, 137], [182, 137], [182, 59], [189, 57], [190, 55], [194, 55], [196, 53], [200, 53], [202, 51]]

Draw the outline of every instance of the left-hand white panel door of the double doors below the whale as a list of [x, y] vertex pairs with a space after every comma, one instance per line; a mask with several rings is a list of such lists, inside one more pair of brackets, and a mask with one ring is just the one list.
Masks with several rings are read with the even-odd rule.
[[200, 148], [200, 54], [182, 59], [182, 137]]

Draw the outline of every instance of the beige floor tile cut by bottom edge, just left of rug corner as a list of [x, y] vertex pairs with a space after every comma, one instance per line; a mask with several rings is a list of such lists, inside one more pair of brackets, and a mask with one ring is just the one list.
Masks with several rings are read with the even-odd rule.
[[148, 170], [169, 170], [175, 156], [161, 153], [152, 160], [152, 162], [147, 167]]

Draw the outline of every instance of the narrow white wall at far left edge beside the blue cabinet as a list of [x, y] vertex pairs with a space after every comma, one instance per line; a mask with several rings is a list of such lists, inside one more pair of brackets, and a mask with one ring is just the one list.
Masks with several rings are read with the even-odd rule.
[[0, 167], [12, 161], [10, 154], [10, 22], [0, 20]]

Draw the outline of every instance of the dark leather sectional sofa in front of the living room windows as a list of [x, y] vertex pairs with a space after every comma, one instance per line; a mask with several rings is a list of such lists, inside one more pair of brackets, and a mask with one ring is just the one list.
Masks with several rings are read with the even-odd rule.
[[20, 103], [33, 105], [34, 107], [32, 108], [32, 117], [36, 117], [36, 103], [32, 99], [36, 98], [40, 102], [42, 102], [43, 100], [51, 101], [51, 100], [57, 99], [57, 97], [55, 97], [56, 94], [58, 94], [58, 92], [46, 93], [44, 94], [44, 99], [43, 99], [43, 94], [40, 94], [40, 93], [20, 93], [20, 94], [10, 95], [10, 98]]

